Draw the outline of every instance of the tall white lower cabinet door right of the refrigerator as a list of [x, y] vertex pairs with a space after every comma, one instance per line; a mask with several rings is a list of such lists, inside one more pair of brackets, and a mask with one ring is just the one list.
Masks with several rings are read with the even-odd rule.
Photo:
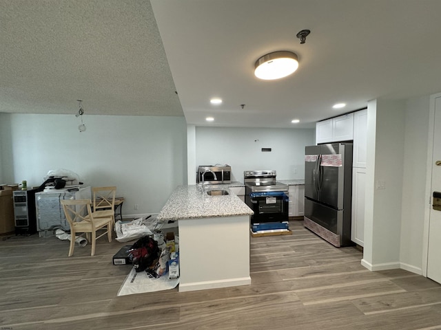
[[366, 168], [353, 168], [351, 241], [360, 246], [365, 240]]

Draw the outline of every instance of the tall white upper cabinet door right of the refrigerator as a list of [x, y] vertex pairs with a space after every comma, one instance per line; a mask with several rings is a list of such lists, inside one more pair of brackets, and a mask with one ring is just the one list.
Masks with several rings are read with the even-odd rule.
[[353, 167], [366, 168], [367, 109], [353, 113]]

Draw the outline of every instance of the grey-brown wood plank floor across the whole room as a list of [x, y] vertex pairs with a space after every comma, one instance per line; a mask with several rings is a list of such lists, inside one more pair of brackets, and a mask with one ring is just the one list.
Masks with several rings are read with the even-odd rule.
[[130, 266], [112, 256], [127, 243], [99, 239], [96, 256], [87, 245], [68, 258], [56, 237], [0, 238], [0, 329], [441, 329], [441, 285], [369, 272], [356, 248], [290, 225], [252, 238], [252, 285], [121, 297]]

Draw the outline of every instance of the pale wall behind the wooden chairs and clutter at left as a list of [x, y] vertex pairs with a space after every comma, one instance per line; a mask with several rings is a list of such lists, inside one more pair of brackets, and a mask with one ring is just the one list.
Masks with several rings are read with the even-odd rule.
[[1, 153], [6, 183], [27, 180], [28, 186], [39, 186], [49, 170], [66, 168], [85, 186], [117, 186], [127, 217], [159, 212], [174, 188], [187, 184], [183, 117], [84, 115], [83, 133], [74, 115], [0, 118], [2, 140], [4, 126], [10, 127], [10, 153]]

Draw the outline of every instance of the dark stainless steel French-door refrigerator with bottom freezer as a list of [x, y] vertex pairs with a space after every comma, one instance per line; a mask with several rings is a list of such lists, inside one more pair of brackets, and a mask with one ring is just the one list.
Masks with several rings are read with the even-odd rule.
[[351, 245], [352, 143], [305, 147], [305, 227]]

